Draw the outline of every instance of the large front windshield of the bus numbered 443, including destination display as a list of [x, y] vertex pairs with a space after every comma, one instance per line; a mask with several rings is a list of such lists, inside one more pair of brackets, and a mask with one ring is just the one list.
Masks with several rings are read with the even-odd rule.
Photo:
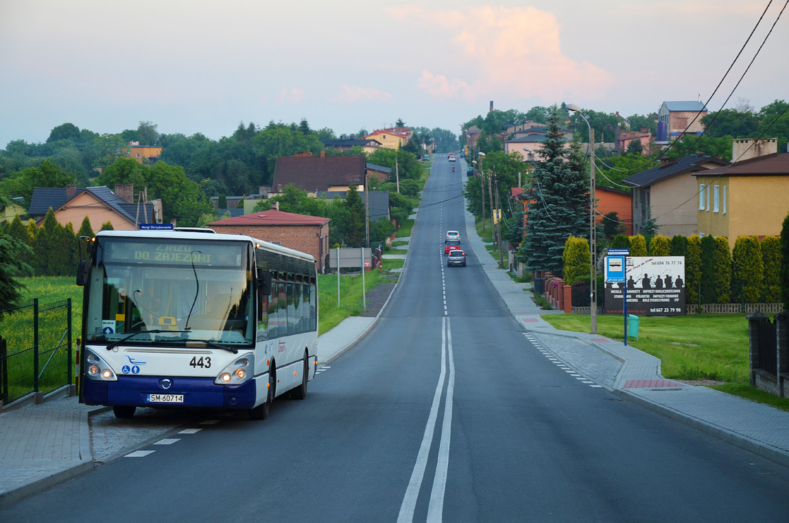
[[249, 244], [98, 237], [95, 248], [86, 329], [93, 341], [139, 332], [130, 344], [252, 345]]

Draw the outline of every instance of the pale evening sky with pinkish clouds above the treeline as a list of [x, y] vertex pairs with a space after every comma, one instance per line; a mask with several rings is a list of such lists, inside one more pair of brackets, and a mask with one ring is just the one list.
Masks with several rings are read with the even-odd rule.
[[[0, 148], [65, 122], [230, 136], [301, 121], [338, 135], [574, 103], [623, 116], [708, 100], [768, 0], [0, 0]], [[784, 2], [772, 2], [710, 110]], [[789, 11], [789, 9], [787, 9]], [[789, 12], [726, 107], [789, 99]]]

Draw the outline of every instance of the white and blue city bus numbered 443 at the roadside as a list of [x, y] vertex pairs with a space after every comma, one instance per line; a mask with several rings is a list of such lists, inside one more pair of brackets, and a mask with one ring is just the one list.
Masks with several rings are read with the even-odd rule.
[[303, 399], [317, 364], [315, 259], [253, 237], [103, 230], [84, 286], [80, 402], [245, 409]]

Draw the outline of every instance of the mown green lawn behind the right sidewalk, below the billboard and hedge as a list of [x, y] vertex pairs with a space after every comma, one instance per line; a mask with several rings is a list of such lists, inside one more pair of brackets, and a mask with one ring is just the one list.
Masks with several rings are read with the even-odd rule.
[[[638, 341], [630, 338], [628, 343], [660, 358], [660, 371], [667, 379], [723, 381], [724, 385], [712, 388], [789, 410], [789, 399], [776, 398], [750, 387], [746, 316], [640, 316]], [[589, 316], [545, 315], [542, 318], [563, 331], [589, 332]], [[621, 341], [623, 327], [622, 316], [597, 316], [598, 334]]]

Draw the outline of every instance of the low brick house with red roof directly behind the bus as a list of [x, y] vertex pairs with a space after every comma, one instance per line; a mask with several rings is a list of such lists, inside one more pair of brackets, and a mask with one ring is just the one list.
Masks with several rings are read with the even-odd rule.
[[329, 219], [279, 211], [279, 202], [268, 211], [226, 218], [206, 224], [217, 233], [246, 234], [283, 247], [306, 252], [315, 257], [320, 273], [326, 267], [329, 252]]

